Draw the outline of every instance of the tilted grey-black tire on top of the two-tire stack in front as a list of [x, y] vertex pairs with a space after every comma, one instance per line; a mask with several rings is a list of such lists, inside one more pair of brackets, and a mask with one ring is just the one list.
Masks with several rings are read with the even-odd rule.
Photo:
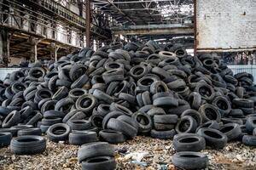
[[90, 157], [114, 156], [114, 147], [107, 142], [93, 142], [83, 144], [78, 151], [79, 162], [85, 161]]

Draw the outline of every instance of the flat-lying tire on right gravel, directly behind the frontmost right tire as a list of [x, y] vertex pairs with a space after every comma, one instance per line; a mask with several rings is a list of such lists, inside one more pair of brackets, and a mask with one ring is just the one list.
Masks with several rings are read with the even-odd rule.
[[206, 149], [206, 140], [195, 133], [177, 134], [173, 139], [174, 150], [201, 151]]

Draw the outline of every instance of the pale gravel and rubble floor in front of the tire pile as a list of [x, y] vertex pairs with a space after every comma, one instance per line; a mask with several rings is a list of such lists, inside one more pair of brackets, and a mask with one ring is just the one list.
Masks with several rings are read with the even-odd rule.
[[[172, 140], [152, 139], [137, 136], [123, 144], [115, 145], [117, 169], [175, 169], [171, 157], [175, 153]], [[43, 154], [34, 156], [15, 156], [9, 147], [0, 149], [1, 170], [80, 170], [77, 159], [79, 146], [48, 141]], [[255, 169], [256, 148], [245, 146], [240, 142], [231, 142], [223, 150], [202, 150], [209, 158], [208, 169]], [[141, 153], [141, 161], [127, 159], [131, 153]], [[136, 158], [136, 157], [133, 157]], [[145, 166], [145, 163], [147, 164]], [[141, 164], [141, 165], [140, 165]], [[144, 166], [143, 166], [143, 165]]]

